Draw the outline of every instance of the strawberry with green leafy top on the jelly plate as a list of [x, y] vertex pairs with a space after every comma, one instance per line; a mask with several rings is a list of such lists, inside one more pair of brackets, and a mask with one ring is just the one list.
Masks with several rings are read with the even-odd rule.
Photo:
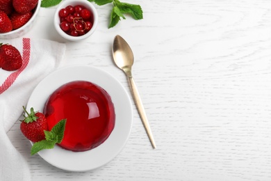
[[33, 107], [30, 109], [30, 113], [23, 107], [27, 117], [24, 116], [24, 120], [21, 123], [20, 129], [22, 134], [27, 139], [33, 142], [42, 141], [45, 139], [44, 130], [48, 131], [47, 119], [43, 113], [34, 112]]

